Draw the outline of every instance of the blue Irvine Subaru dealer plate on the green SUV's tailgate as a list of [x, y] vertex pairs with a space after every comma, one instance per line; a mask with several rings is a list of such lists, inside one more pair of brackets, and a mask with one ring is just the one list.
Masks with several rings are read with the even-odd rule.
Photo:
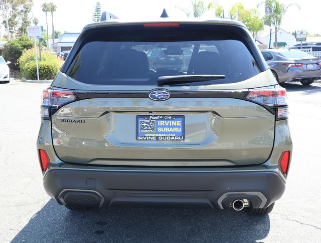
[[184, 140], [185, 116], [139, 115], [136, 116], [136, 140]]

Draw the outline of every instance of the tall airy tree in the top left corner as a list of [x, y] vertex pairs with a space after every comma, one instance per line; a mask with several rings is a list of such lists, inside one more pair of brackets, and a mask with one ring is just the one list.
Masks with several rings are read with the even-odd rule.
[[27, 35], [27, 27], [30, 25], [29, 14], [31, 12], [32, 0], [1, 0], [0, 14], [3, 25], [7, 30], [8, 40], [12, 36]]

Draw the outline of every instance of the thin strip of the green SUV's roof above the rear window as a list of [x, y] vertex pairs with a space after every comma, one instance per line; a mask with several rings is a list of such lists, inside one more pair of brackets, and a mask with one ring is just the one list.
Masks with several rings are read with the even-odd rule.
[[84, 29], [94, 28], [99, 26], [108, 26], [108, 25], [124, 25], [124, 24], [144, 24], [144, 23], [186, 23], [186, 24], [222, 24], [222, 25], [236, 25], [245, 27], [245, 25], [239, 21], [229, 20], [229, 19], [204, 19], [204, 18], [156, 18], [149, 20], [126, 20], [126, 19], [111, 19], [110, 21], [101, 21], [96, 23], [88, 24], [84, 27]]

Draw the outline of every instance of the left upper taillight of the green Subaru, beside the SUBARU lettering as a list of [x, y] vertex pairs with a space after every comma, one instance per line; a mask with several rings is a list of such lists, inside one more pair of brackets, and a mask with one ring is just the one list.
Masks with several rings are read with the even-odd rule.
[[40, 108], [41, 119], [50, 120], [51, 114], [74, 100], [77, 100], [77, 97], [71, 90], [54, 88], [43, 90]]

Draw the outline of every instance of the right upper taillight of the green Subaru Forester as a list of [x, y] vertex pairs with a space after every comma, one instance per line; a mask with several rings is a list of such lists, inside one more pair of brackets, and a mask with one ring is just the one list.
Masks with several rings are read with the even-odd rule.
[[245, 99], [267, 108], [275, 108], [276, 120], [288, 118], [287, 95], [282, 87], [250, 90]]

